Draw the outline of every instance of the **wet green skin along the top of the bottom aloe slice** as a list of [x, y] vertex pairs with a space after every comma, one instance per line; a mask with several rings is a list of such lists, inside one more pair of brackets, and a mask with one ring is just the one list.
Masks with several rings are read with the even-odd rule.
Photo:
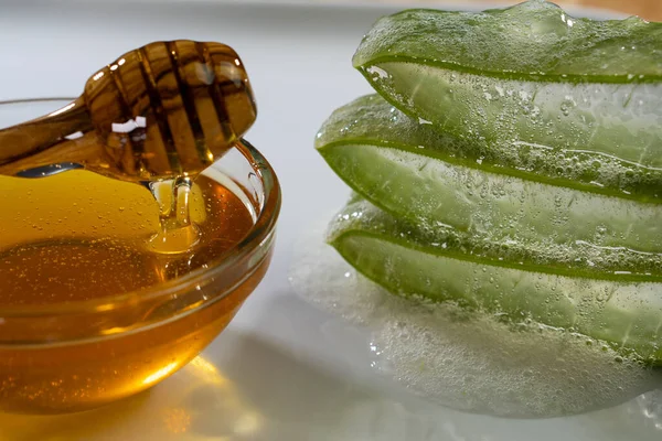
[[[469, 254], [494, 266], [514, 267], [534, 272], [568, 277], [588, 277], [618, 281], [662, 282], [662, 254], [641, 252], [622, 247], [597, 247], [588, 243], [572, 245], [495, 239], [491, 235], [461, 232], [449, 225], [421, 225], [389, 215], [353, 193], [346, 203], [354, 211], [343, 212], [341, 222], [360, 217], [380, 234], [406, 238], [418, 248], [439, 248], [449, 257]], [[352, 220], [354, 222], [354, 220]], [[459, 250], [459, 251], [458, 251]], [[459, 254], [458, 254], [459, 252]]]

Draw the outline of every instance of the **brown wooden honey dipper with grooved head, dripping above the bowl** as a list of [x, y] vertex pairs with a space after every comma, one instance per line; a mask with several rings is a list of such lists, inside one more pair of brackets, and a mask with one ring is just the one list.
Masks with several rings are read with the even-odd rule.
[[0, 174], [40, 176], [70, 163], [134, 182], [195, 175], [233, 147], [256, 111], [229, 46], [156, 42], [98, 71], [68, 106], [0, 130]]

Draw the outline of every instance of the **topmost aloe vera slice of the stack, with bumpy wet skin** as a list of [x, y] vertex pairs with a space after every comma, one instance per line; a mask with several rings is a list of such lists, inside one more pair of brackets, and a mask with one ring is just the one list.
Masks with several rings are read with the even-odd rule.
[[353, 63], [388, 101], [470, 142], [662, 166], [662, 24], [530, 1], [383, 18]]

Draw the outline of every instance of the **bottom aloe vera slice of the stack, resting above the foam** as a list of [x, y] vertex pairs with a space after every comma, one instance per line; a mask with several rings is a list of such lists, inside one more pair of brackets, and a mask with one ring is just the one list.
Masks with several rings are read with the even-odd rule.
[[394, 294], [453, 301], [513, 323], [534, 320], [608, 342], [662, 366], [659, 277], [631, 280], [600, 272], [570, 276], [544, 266], [524, 268], [490, 251], [477, 252], [476, 243], [449, 230], [421, 230], [361, 200], [339, 213], [328, 239], [350, 265]]

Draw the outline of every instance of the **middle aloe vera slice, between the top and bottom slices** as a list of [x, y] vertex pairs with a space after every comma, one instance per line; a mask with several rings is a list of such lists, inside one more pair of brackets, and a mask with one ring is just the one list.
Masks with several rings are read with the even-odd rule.
[[463, 143], [375, 96], [338, 109], [316, 143], [329, 165], [375, 205], [425, 225], [542, 244], [662, 249], [662, 209], [502, 174], [463, 158]]

